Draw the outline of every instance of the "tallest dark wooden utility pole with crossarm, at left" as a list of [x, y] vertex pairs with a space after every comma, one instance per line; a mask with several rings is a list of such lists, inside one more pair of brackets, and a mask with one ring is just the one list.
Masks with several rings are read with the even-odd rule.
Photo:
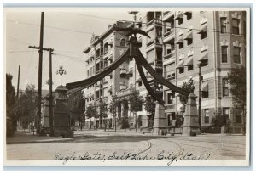
[[29, 46], [28, 48], [38, 49], [38, 121], [36, 121], [37, 133], [41, 133], [41, 100], [42, 100], [42, 62], [43, 62], [43, 40], [44, 40], [44, 12], [41, 13], [40, 43], [39, 47]]

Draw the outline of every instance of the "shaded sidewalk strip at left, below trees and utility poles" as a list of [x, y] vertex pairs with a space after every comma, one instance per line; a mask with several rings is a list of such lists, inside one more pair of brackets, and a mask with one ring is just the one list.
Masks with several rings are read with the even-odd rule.
[[6, 138], [6, 144], [53, 143], [53, 142], [67, 142], [67, 141], [73, 141], [73, 138], [38, 136], [38, 135], [33, 135], [32, 132], [26, 132], [26, 131], [15, 132], [14, 137]]

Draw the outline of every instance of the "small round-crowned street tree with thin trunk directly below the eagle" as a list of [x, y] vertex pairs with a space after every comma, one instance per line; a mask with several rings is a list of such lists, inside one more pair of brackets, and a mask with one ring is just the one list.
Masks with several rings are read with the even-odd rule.
[[143, 97], [139, 95], [139, 92], [133, 90], [129, 96], [130, 110], [135, 115], [135, 128], [137, 132], [137, 112], [143, 110]]

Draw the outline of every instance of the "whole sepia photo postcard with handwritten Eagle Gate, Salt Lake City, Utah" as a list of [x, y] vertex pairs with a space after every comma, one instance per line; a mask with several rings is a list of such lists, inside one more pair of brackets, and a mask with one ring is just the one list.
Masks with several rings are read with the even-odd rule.
[[249, 166], [250, 16], [4, 7], [3, 165]]

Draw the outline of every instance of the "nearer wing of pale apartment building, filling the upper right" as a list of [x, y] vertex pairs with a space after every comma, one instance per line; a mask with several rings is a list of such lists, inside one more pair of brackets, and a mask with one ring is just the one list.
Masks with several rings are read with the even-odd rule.
[[[201, 126], [214, 121], [224, 125], [227, 119], [241, 126], [241, 110], [234, 109], [226, 81], [230, 69], [246, 65], [246, 13], [164, 12], [162, 20], [164, 76], [179, 87], [189, 78], [195, 81], [194, 93], [201, 93]], [[165, 90], [164, 96], [172, 126], [182, 104], [171, 91]]]

